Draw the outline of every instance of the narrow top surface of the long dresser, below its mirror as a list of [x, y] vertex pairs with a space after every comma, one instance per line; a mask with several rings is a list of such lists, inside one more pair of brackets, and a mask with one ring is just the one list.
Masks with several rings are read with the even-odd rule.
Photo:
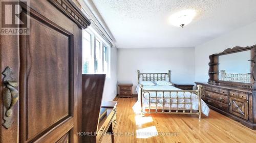
[[234, 85], [223, 84], [223, 83], [208, 83], [208, 82], [195, 82], [195, 83], [208, 85], [210, 87], [217, 87], [217, 88], [235, 90], [235, 91], [240, 91], [240, 92], [252, 93], [252, 90], [250, 90], [250, 89], [246, 89], [246, 88], [238, 87], [238, 86], [234, 86]]

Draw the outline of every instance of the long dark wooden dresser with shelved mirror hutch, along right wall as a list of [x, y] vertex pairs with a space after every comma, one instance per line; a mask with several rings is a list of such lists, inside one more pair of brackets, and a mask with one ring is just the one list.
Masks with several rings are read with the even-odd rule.
[[201, 98], [211, 109], [251, 129], [256, 129], [255, 53], [256, 45], [209, 55], [208, 82], [195, 82], [202, 85]]

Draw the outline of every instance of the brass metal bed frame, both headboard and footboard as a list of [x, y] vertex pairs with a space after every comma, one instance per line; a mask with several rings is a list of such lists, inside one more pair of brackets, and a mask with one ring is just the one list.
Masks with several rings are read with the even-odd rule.
[[[170, 81], [170, 70], [168, 70], [167, 73], [140, 73], [138, 70], [138, 84], [140, 84], [140, 78], [142, 78], [142, 81], [159, 81], [159, 80], [166, 80], [168, 78], [168, 81]], [[202, 108], [201, 108], [201, 87], [202, 85], [197, 85], [198, 90], [144, 90], [143, 85], [140, 85], [141, 89], [141, 112], [142, 114], [147, 113], [168, 113], [168, 114], [183, 114], [183, 115], [198, 115], [199, 119], [202, 119]], [[169, 93], [169, 97], [164, 97], [164, 93]], [[185, 93], [189, 92], [190, 97], [185, 97]], [[144, 94], [148, 94], [149, 99], [149, 107], [146, 107], [145, 110], [143, 110], [143, 100]], [[152, 93], [155, 93], [155, 97], [152, 97]], [[158, 97], [157, 94], [162, 93], [162, 97]], [[176, 97], [171, 97], [172, 93], [176, 94]], [[178, 97], [178, 93], [183, 93], [183, 97]], [[199, 97], [198, 102], [198, 110], [192, 109], [192, 94], [196, 94]], [[152, 99], [155, 99], [155, 102], [152, 101]], [[162, 99], [162, 102], [158, 102], [158, 99]], [[169, 99], [169, 102], [165, 102], [164, 99]], [[173, 99], [176, 99], [176, 102], [172, 102]], [[183, 102], [179, 102], [178, 99], [182, 100]], [[185, 99], [189, 102], [185, 102]], [[190, 100], [189, 100], [190, 99]], [[151, 108], [152, 104], [155, 104], [155, 108]], [[158, 104], [162, 104], [162, 107], [158, 107]], [[169, 104], [169, 107], [165, 107], [165, 104]], [[172, 108], [172, 104], [176, 104], [176, 108]], [[180, 108], [178, 105], [182, 104], [183, 107]], [[185, 104], [190, 104], [190, 109], [185, 108]]]

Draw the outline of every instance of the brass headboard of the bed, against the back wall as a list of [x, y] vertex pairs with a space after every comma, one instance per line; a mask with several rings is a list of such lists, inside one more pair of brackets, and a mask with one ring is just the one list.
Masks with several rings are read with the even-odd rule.
[[140, 73], [139, 70], [138, 72], [138, 84], [140, 83], [140, 77], [142, 76], [142, 81], [158, 81], [158, 80], [166, 80], [167, 78], [170, 81], [170, 70], [168, 70], [167, 73]]

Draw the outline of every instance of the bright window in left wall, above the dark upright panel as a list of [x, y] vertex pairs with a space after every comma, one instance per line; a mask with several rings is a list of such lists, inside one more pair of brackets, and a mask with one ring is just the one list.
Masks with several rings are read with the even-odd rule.
[[109, 74], [109, 45], [93, 30], [83, 30], [82, 38], [82, 73]]

